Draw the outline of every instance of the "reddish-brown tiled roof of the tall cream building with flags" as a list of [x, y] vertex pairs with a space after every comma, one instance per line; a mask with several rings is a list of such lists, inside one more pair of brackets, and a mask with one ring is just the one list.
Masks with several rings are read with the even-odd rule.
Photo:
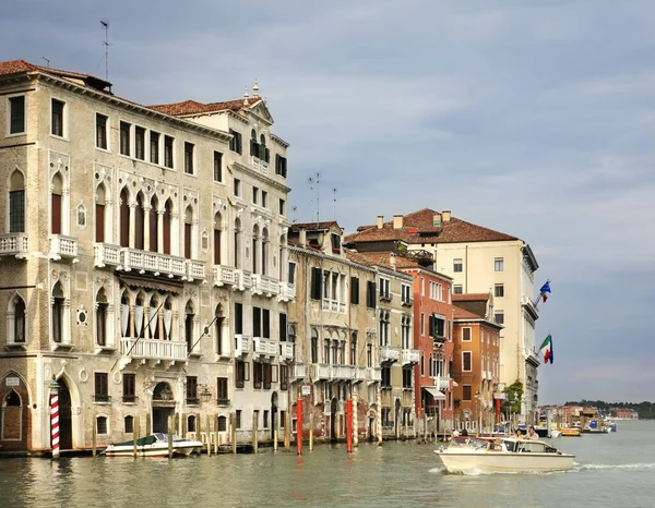
[[451, 217], [433, 225], [434, 215], [439, 211], [422, 208], [403, 217], [403, 227], [394, 228], [393, 221], [374, 226], [360, 226], [357, 232], [346, 237], [346, 242], [377, 242], [400, 240], [405, 243], [461, 243], [461, 242], [500, 242], [519, 240], [516, 237], [484, 228], [472, 222]]

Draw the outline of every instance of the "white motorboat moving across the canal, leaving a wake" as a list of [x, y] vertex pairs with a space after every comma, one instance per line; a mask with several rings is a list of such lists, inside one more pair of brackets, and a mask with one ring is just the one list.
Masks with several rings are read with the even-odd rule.
[[434, 452], [449, 473], [533, 473], [569, 471], [574, 455], [563, 453], [541, 440], [455, 437]]

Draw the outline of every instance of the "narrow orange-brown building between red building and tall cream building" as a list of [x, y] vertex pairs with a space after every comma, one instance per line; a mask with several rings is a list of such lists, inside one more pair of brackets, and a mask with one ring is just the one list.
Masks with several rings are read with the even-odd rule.
[[453, 295], [454, 351], [452, 376], [455, 427], [490, 431], [493, 392], [499, 391], [500, 330], [491, 294]]

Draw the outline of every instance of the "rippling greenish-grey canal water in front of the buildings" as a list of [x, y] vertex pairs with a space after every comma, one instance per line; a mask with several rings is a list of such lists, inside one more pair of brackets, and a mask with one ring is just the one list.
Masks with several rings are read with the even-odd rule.
[[0, 459], [0, 507], [654, 507], [655, 422], [608, 435], [553, 439], [576, 455], [571, 472], [446, 474], [434, 445], [306, 447], [298, 457]]

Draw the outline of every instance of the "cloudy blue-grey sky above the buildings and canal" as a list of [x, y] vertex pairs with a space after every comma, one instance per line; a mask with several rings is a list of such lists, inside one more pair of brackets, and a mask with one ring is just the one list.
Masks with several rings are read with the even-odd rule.
[[539, 403], [641, 402], [655, 400], [654, 16], [651, 0], [10, 0], [0, 61], [104, 77], [108, 20], [121, 97], [229, 100], [257, 78], [290, 143], [289, 220], [318, 210], [352, 232], [430, 207], [525, 240], [552, 290]]

